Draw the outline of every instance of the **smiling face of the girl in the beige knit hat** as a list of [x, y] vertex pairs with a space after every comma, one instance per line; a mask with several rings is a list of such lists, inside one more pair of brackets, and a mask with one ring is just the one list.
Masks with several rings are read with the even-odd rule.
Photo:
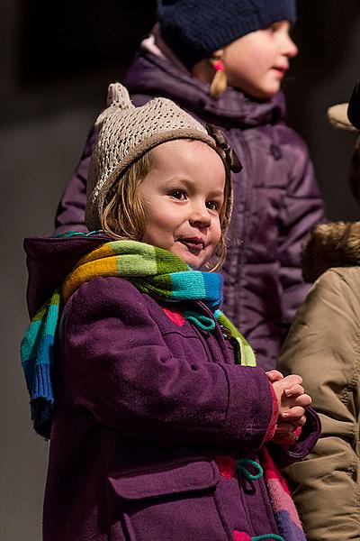
[[147, 216], [143, 241], [175, 253], [193, 269], [210, 260], [220, 242], [225, 168], [204, 142], [164, 142], [139, 185]]

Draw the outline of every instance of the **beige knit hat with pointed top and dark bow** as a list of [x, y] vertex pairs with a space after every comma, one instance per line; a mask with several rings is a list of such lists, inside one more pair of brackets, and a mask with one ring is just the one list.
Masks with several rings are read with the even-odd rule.
[[[107, 103], [108, 107], [95, 123], [97, 142], [87, 179], [85, 224], [89, 231], [101, 229], [105, 199], [121, 174], [134, 160], [162, 142], [197, 139], [218, 152], [228, 178], [230, 169], [241, 169], [235, 153], [224, 138], [219, 141], [216, 130], [208, 131], [166, 98], [157, 97], [146, 105], [135, 107], [127, 89], [120, 83], [112, 83], [108, 88]], [[232, 201], [226, 203], [229, 220]]]

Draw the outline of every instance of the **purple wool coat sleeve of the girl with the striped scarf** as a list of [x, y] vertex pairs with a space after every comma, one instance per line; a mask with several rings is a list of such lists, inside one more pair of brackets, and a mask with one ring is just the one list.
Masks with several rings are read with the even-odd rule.
[[155, 445], [262, 445], [272, 417], [265, 372], [197, 362], [201, 350], [176, 356], [127, 280], [82, 284], [67, 303], [64, 336], [67, 389], [103, 425]]

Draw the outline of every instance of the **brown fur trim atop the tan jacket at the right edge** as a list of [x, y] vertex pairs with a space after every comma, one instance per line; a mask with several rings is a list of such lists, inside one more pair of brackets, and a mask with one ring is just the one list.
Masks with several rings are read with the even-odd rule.
[[313, 282], [332, 267], [360, 265], [360, 222], [336, 222], [311, 228], [302, 248], [302, 275]]

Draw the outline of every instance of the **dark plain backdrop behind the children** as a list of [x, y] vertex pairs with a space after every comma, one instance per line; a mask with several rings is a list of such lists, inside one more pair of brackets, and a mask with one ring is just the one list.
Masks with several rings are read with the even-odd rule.
[[[226, 5], [226, 2], [224, 3]], [[23, 237], [49, 234], [58, 198], [105, 104], [155, 20], [154, 0], [2, 0], [1, 541], [40, 541], [48, 445], [31, 431], [18, 347], [28, 324]], [[330, 219], [357, 219], [347, 188], [354, 133], [329, 105], [360, 78], [358, 0], [300, 0], [300, 55], [284, 83], [288, 123], [308, 142]]]

